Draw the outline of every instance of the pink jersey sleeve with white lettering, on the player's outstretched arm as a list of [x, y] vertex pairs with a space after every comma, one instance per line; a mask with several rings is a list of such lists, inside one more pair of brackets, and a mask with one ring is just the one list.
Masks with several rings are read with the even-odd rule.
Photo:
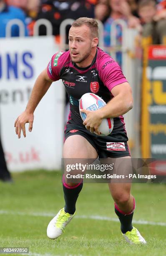
[[53, 81], [57, 81], [60, 79], [60, 69], [62, 68], [62, 61], [60, 57], [62, 56], [62, 54], [63, 51], [57, 52], [52, 56], [51, 60], [48, 63], [47, 74], [48, 77]]

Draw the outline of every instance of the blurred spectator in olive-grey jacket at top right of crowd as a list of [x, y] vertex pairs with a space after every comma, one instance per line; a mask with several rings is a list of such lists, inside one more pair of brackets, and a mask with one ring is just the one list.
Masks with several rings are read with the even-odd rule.
[[142, 37], [148, 39], [147, 43], [166, 43], [166, 19], [157, 13], [156, 2], [141, 0], [138, 3], [138, 12], [143, 23]]

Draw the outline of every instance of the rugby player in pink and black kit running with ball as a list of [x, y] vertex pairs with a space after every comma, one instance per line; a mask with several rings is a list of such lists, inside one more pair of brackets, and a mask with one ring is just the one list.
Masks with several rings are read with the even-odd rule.
[[[92, 18], [75, 20], [69, 31], [69, 51], [58, 52], [52, 56], [48, 67], [41, 72], [34, 84], [25, 111], [15, 120], [18, 138], [21, 131], [26, 136], [25, 123], [29, 123], [29, 131], [32, 131], [35, 108], [52, 82], [62, 79], [70, 100], [63, 158], [131, 158], [122, 116], [133, 107], [131, 87], [116, 61], [97, 45], [97, 21]], [[102, 97], [107, 104], [96, 111], [82, 110], [87, 115], [83, 122], [79, 113], [79, 99], [87, 92]], [[98, 127], [103, 118], [114, 118], [114, 128], [108, 136], [98, 136]], [[107, 142], [121, 143], [122, 148], [118, 151], [115, 148], [108, 150]], [[108, 185], [115, 202], [116, 215], [121, 223], [122, 235], [128, 243], [146, 243], [132, 225], [135, 200], [131, 195], [131, 184]], [[75, 204], [82, 187], [83, 182], [68, 183], [63, 177], [65, 207], [48, 224], [49, 238], [58, 238], [74, 217]]]

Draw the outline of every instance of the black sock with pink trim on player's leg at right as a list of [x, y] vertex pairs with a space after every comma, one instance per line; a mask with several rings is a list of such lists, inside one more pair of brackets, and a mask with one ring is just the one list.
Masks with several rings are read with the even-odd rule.
[[125, 234], [127, 231], [131, 231], [133, 229], [132, 220], [133, 220], [133, 211], [135, 209], [135, 200], [134, 200], [133, 211], [131, 211], [130, 214], [123, 214], [119, 212], [117, 208], [118, 207], [116, 206], [115, 213], [121, 222], [121, 231], [123, 234]]

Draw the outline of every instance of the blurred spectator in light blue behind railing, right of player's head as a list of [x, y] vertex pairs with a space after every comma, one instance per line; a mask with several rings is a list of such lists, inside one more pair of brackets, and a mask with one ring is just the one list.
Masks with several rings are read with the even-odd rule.
[[[104, 23], [104, 46], [111, 46], [111, 25], [114, 20], [124, 20], [129, 28], [140, 28], [140, 21], [132, 15], [130, 5], [127, 0], [110, 0], [111, 13], [109, 18]], [[122, 28], [121, 25], [116, 26], [116, 46], [122, 44]], [[122, 64], [121, 51], [116, 52], [116, 61], [119, 65]]]

